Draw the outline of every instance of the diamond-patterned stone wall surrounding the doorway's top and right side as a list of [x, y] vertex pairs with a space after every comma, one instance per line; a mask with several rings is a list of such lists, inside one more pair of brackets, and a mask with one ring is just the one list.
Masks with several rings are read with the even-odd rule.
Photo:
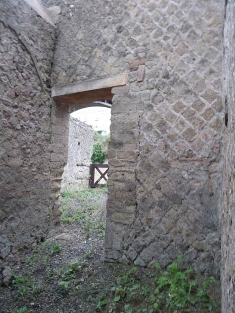
[[219, 272], [223, 12], [220, 0], [62, 8], [54, 85], [128, 72], [113, 89], [106, 260], [182, 253]]

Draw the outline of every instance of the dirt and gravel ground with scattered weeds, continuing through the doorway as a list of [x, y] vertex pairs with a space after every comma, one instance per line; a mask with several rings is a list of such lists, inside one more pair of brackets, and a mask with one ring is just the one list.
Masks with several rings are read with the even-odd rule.
[[106, 188], [63, 192], [64, 232], [12, 264], [0, 287], [0, 313], [206, 313], [220, 311], [219, 281], [180, 270], [102, 260]]

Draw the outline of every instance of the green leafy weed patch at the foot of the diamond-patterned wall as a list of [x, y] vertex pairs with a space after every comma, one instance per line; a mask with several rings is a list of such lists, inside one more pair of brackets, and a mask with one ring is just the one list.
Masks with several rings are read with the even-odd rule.
[[[181, 255], [166, 270], [161, 270], [159, 264], [154, 264], [156, 272], [149, 280], [151, 284], [145, 286], [136, 277], [140, 269], [136, 266], [130, 268], [117, 278], [117, 285], [111, 289], [114, 296], [109, 300], [110, 312], [115, 311], [117, 306], [126, 313], [189, 313], [192, 309], [195, 312], [195, 308], [200, 311], [214, 311], [216, 303], [208, 293], [209, 283], [215, 283], [214, 277], [197, 281], [193, 269], [182, 270], [181, 264]], [[142, 309], [136, 310], [136, 305], [142, 305]]]

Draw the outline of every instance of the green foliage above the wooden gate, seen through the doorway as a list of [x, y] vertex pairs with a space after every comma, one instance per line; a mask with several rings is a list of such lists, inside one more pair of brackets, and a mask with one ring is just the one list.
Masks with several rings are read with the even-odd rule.
[[103, 163], [108, 155], [108, 145], [110, 141], [110, 135], [102, 135], [99, 132], [95, 133], [95, 142], [93, 146], [93, 154], [91, 156], [92, 163]]

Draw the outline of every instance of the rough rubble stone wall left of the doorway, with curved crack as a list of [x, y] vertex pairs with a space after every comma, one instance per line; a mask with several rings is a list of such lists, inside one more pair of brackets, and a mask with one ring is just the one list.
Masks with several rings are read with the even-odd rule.
[[0, 5], [0, 263], [43, 240], [50, 198], [55, 29], [21, 0]]

